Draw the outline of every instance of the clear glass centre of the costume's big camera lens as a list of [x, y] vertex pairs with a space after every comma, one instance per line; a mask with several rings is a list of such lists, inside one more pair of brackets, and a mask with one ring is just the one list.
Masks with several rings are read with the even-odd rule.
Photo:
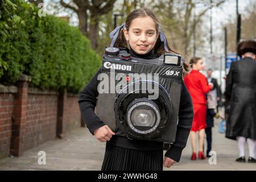
[[155, 123], [154, 111], [135, 109], [131, 114], [131, 122], [134, 126], [153, 126]]

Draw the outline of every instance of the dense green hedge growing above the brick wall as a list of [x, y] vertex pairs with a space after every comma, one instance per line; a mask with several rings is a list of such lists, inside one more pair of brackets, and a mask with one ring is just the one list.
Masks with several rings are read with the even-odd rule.
[[55, 16], [38, 16], [22, 0], [0, 0], [0, 81], [22, 74], [42, 89], [78, 93], [100, 68], [101, 59], [78, 28]]

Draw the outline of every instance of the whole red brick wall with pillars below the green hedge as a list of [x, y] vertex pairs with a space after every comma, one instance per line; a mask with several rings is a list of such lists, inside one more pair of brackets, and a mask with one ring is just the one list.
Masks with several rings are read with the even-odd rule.
[[0, 159], [83, 126], [77, 95], [31, 88], [25, 78], [0, 84]]

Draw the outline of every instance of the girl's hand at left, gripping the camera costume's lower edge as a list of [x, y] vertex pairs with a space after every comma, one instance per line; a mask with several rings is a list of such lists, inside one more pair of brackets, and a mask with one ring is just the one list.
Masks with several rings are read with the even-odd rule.
[[100, 142], [109, 141], [110, 138], [112, 138], [112, 135], [115, 135], [115, 133], [109, 128], [108, 125], [104, 125], [96, 129], [93, 134]]

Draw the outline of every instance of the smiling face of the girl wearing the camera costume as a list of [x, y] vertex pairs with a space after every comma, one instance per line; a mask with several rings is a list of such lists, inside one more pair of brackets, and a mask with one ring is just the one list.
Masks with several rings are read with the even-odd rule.
[[150, 52], [158, 38], [155, 22], [150, 16], [133, 19], [129, 31], [125, 28], [123, 32], [130, 47], [141, 55]]

